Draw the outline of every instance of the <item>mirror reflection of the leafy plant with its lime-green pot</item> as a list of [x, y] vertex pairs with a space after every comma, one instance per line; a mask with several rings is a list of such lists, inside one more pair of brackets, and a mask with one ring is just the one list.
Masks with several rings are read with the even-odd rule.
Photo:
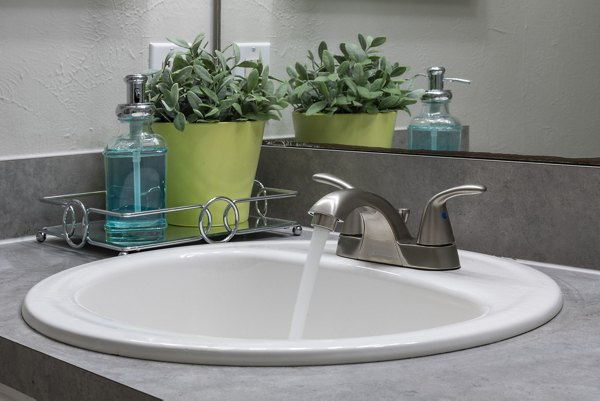
[[340, 54], [321, 42], [308, 64], [287, 68], [298, 141], [391, 146], [397, 111], [416, 102], [400, 79], [408, 68], [380, 55], [386, 38], [359, 34], [358, 41], [341, 43]]

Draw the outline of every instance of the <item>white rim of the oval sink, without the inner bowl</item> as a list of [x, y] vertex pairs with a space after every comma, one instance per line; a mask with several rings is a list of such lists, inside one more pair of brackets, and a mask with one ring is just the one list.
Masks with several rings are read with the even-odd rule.
[[[335, 252], [335, 241], [328, 242], [325, 259], [335, 260], [343, 266], [389, 274], [390, 278], [402, 281], [421, 284], [435, 282], [435, 285], [425, 286], [433, 286], [447, 294], [477, 301], [478, 304], [479, 300], [486, 300], [486, 309], [475, 319], [398, 334], [336, 339], [257, 340], [165, 332], [110, 321], [87, 312], [77, 303], [76, 291], [67, 293], [65, 288], [59, 286], [66, 280], [71, 288], [79, 288], [82, 281], [77, 280], [83, 279], [85, 284], [86, 281], [106, 275], [108, 270], [118, 272], [122, 269], [121, 264], [126, 265], [131, 261], [142, 264], [146, 258], [201, 257], [205, 253], [230, 255], [233, 253], [232, 248], [250, 248], [256, 252], [276, 248], [281, 250], [280, 253], [288, 252], [282, 249], [300, 252], [307, 249], [308, 244], [309, 241], [305, 240], [267, 240], [196, 245], [95, 261], [57, 273], [36, 284], [23, 302], [22, 315], [31, 327], [51, 338], [109, 354], [186, 363], [290, 366], [392, 360], [471, 348], [535, 329], [551, 320], [562, 308], [562, 293], [552, 279], [511, 260], [459, 251], [462, 269], [453, 272], [421, 271], [337, 257], [332, 254]], [[475, 264], [482, 261], [496, 265], [498, 269], [478, 271]], [[137, 268], [143, 269], [139, 266]], [[513, 276], [507, 277], [506, 273], [512, 273]], [[482, 286], [482, 282], [490, 277], [505, 280], [504, 284], [511, 286], [507, 288], [519, 294], [519, 307], [514, 307], [515, 301], [512, 298], [500, 297], [498, 300], [497, 293]], [[517, 279], [525, 280], [529, 285], [534, 283], [535, 292], [521, 282], [515, 283], [514, 280]], [[58, 288], [52, 288], [55, 286]], [[54, 298], [49, 300], [42, 296], [40, 299], [40, 295], [49, 287], [54, 290]], [[498, 303], [491, 304], [492, 298]], [[524, 307], [533, 310], [535, 318], [524, 316]], [[513, 324], [505, 327], [506, 320], [511, 320]], [[80, 333], [72, 333], [72, 327], [78, 327]], [[472, 332], [465, 335], [466, 329]]]

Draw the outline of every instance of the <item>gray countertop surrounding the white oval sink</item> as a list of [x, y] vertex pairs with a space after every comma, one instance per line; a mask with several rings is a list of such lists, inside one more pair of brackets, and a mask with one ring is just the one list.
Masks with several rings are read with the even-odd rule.
[[[143, 361], [78, 349], [20, 315], [40, 280], [114, 256], [49, 238], [0, 243], [0, 382], [35, 399], [68, 400], [598, 400], [600, 273], [538, 267], [562, 288], [548, 324], [499, 343], [354, 365], [241, 368]], [[110, 294], [107, 294], [110, 296]]]

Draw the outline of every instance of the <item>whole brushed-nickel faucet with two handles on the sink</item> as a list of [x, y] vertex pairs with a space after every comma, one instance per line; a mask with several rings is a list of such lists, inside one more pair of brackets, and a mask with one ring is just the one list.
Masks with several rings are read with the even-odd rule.
[[446, 202], [486, 191], [482, 185], [461, 185], [434, 195], [423, 210], [415, 238], [406, 226], [408, 209], [396, 209], [383, 197], [331, 174], [315, 174], [313, 180], [339, 188], [308, 212], [313, 227], [338, 229], [338, 256], [424, 270], [460, 268]]

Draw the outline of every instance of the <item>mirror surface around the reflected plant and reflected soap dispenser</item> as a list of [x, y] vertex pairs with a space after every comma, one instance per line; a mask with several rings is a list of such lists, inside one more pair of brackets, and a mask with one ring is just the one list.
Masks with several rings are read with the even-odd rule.
[[[359, 32], [385, 36], [383, 54], [409, 66], [407, 76], [444, 66], [447, 76], [472, 81], [446, 88], [473, 155], [600, 164], [598, 20], [595, 1], [231, 0], [222, 35], [223, 43], [270, 42], [271, 72], [280, 78], [321, 40], [337, 50], [357, 43]], [[413, 115], [420, 107], [411, 106]], [[271, 124], [275, 142], [293, 135], [289, 114]], [[409, 121], [399, 113], [397, 129]]]

